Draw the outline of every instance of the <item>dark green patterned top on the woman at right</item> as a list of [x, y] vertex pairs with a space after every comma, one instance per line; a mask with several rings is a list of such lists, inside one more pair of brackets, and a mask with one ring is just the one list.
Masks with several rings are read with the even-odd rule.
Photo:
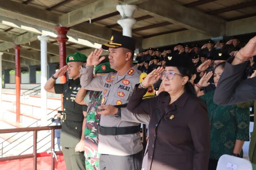
[[[207, 104], [211, 125], [210, 159], [219, 160], [221, 155], [232, 155], [235, 140], [249, 141], [249, 108], [236, 105], [220, 106], [213, 102], [215, 91], [199, 97]], [[243, 155], [243, 151], [241, 154]]]

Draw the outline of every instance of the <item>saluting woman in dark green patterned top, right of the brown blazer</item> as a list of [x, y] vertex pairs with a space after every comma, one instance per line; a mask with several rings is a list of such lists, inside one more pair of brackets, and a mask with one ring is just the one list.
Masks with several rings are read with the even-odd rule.
[[[214, 69], [214, 84], [217, 87], [219, 77], [224, 71], [225, 62], [219, 63]], [[208, 86], [212, 72], [204, 74], [196, 86]], [[213, 102], [215, 91], [209, 92], [199, 98], [207, 104], [211, 125], [211, 150], [208, 170], [216, 170], [221, 155], [234, 155], [243, 157], [242, 147], [249, 141], [249, 108], [240, 108], [237, 105], [220, 106]]]

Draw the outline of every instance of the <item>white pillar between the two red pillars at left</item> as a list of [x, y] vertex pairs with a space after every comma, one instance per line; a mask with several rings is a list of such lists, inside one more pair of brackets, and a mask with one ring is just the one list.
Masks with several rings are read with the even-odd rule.
[[37, 36], [41, 41], [41, 125], [47, 126], [47, 92], [44, 85], [47, 82], [47, 41], [49, 36]]

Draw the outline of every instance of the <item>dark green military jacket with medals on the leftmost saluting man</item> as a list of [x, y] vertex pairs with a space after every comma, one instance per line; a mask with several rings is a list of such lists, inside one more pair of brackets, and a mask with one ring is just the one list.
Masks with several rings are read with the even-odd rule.
[[83, 109], [82, 105], [75, 103], [75, 97], [80, 88], [80, 78], [54, 85], [55, 93], [63, 94], [63, 122], [60, 134], [62, 147], [75, 148], [81, 139]]

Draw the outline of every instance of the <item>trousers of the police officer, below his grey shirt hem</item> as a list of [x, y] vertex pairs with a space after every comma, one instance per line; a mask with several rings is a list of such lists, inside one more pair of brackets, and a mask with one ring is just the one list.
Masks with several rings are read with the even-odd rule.
[[143, 150], [127, 156], [101, 154], [100, 170], [141, 170], [142, 159]]

